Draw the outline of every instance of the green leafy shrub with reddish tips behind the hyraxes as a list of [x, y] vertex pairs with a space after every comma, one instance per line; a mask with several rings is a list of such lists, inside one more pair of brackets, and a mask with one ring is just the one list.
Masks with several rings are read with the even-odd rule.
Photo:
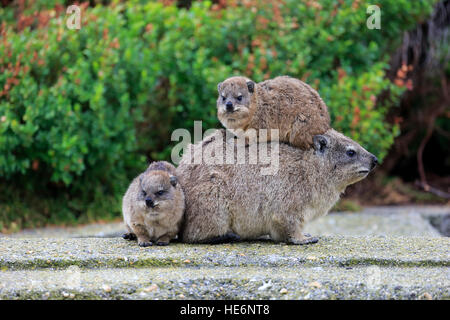
[[170, 159], [174, 129], [218, 126], [216, 85], [236, 74], [310, 83], [333, 126], [381, 159], [404, 89], [385, 79], [389, 54], [434, 2], [377, 1], [381, 30], [367, 29], [368, 4], [349, 0], [113, 1], [83, 6], [80, 30], [66, 28], [63, 1], [33, 2], [18, 19], [0, 8], [1, 183], [65, 195], [80, 212], [107, 195], [114, 207], [102, 210], [117, 214], [145, 157]]

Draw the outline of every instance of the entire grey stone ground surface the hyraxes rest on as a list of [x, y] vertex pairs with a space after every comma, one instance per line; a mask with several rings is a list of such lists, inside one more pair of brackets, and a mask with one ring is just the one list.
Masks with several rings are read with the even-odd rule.
[[26, 230], [0, 238], [0, 299], [450, 299], [450, 238], [430, 224], [449, 212], [330, 214], [307, 225], [308, 246], [140, 248], [122, 223]]

